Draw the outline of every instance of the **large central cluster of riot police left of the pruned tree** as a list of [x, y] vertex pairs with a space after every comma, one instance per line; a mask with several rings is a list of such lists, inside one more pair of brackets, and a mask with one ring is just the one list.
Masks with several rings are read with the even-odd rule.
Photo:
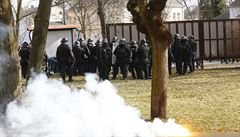
[[[85, 73], [97, 73], [100, 80], [109, 79], [112, 70], [112, 79], [116, 79], [120, 72], [123, 79], [128, 78], [128, 71], [132, 73], [133, 79], [149, 79], [150, 47], [145, 39], [138, 44], [126, 39], [113, 37], [109, 43], [106, 38], [96, 43], [88, 39], [79, 39], [71, 49], [67, 39], [61, 40], [57, 48], [56, 58], [60, 67], [60, 75], [65, 81], [66, 74], [69, 81], [73, 75], [84, 75]], [[144, 73], [144, 76], [143, 76]]]

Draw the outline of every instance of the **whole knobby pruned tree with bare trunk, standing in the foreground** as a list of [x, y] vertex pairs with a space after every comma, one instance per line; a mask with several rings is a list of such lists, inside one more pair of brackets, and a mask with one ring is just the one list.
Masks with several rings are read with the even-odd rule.
[[151, 91], [151, 119], [167, 118], [167, 49], [171, 33], [164, 27], [162, 11], [167, 0], [129, 0], [128, 10], [140, 32], [151, 42], [153, 54], [153, 74]]

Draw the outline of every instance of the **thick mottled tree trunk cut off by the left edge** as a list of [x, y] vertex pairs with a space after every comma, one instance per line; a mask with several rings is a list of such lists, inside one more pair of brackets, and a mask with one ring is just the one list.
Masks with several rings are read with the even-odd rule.
[[0, 1], [0, 111], [20, 91], [16, 32], [10, 0]]

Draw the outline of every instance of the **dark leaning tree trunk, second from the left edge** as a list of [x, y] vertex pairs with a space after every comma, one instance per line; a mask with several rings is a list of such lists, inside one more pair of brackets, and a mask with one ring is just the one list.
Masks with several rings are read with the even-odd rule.
[[33, 31], [29, 69], [36, 73], [41, 73], [42, 71], [51, 7], [52, 0], [40, 0], [38, 11], [34, 18], [35, 26]]

